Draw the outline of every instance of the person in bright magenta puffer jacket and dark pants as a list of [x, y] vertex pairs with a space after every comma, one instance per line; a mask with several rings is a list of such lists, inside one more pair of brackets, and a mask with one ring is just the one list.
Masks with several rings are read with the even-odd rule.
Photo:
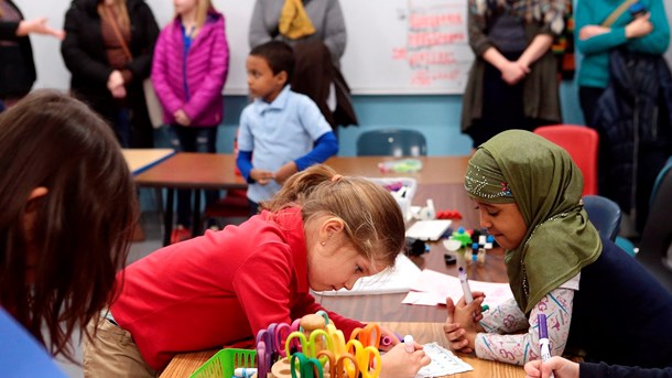
[[[159, 35], [152, 84], [163, 106], [163, 120], [178, 151], [216, 152], [221, 122], [221, 89], [229, 66], [224, 14], [210, 0], [175, 0], [175, 19]], [[206, 204], [217, 201], [206, 192]], [[177, 226], [171, 242], [189, 238], [192, 191], [177, 192]]]

